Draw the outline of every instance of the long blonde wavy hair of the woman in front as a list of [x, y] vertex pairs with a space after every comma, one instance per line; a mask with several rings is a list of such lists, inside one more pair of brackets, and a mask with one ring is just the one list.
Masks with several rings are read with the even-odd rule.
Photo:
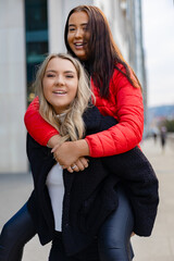
[[[46, 100], [42, 88], [42, 79], [47, 65], [53, 58], [71, 61], [75, 66], [78, 77], [76, 97], [64, 111], [63, 121], [61, 121], [61, 117], [58, 117], [53, 107]], [[89, 88], [89, 78], [78, 60], [65, 53], [53, 53], [48, 55], [37, 71], [34, 87], [36, 95], [39, 97], [39, 113], [49, 124], [58, 129], [61, 136], [60, 142], [62, 144], [66, 140], [74, 141], [83, 138], [85, 134], [83, 114], [89, 104], [91, 104], [91, 97], [94, 98], [94, 94]]]

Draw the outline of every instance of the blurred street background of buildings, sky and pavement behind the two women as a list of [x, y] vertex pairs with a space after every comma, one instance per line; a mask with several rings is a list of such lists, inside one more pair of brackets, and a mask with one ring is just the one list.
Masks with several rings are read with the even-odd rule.
[[[160, 179], [162, 200], [152, 239], [145, 243], [133, 239], [139, 254], [136, 260], [172, 261], [173, 0], [0, 0], [0, 204], [3, 210], [0, 225], [25, 202], [33, 187], [25, 152], [24, 114], [34, 99], [32, 83], [37, 65], [47, 53], [66, 51], [65, 20], [69, 11], [78, 4], [94, 4], [104, 12], [115, 42], [142, 85], [145, 132], [141, 147]], [[164, 252], [161, 245], [165, 246]], [[35, 251], [33, 244], [24, 260], [47, 260], [45, 252], [42, 258], [36, 254], [32, 259], [30, 251]]]

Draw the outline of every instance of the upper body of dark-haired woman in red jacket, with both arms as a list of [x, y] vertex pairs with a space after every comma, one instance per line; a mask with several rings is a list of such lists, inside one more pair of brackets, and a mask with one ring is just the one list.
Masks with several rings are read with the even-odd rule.
[[[70, 144], [70, 152], [65, 157], [63, 147], [58, 156], [54, 151], [57, 160], [66, 167], [79, 157], [105, 157], [135, 148], [142, 138], [144, 129], [141, 87], [113, 41], [103, 13], [91, 5], [73, 9], [65, 24], [64, 39], [69, 53], [78, 58], [90, 75], [96, 107], [103, 115], [114, 116], [119, 124], [107, 132]], [[26, 112], [27, 130], [40, 145], [54, 147], [53, 136], [58, 136], [58, 132], [39, 115], [38, 105], [36, 98]], [[74, 153], [76, 146], [77, 156]], [[74, 171], [79, 169], [80, 164]]]

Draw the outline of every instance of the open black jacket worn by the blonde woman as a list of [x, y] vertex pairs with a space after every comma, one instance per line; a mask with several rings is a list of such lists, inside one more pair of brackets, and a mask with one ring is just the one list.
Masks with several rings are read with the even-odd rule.
[[[116, 124], [102, 116], [96, 107], [84, 113], [86, 135], [108, 129]], [[28, 209], [37, 227], [40, 243], [53, 238], [54, 221], [46, 186], [48, 172], [55, 161], [50, 149], [27, 135], [27, 156], [34, 176], [34, 191]], [[147, 158], [138, 147], [122, 154], [90, 158], [89, 166], [79, 173], [63, 171], [62, 235], [66, 253], [72, 256], [87, 247], [105, 217], [116, 209], [116, 185], [122, 183], [130, 200], [135, 226], [139, 236], [149, 236], [159, 203], [158, 179]]]

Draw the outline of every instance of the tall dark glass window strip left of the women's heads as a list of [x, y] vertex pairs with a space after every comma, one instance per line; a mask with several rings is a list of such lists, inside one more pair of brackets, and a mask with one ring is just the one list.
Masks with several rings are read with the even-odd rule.
[[37, 66], [48, 53], [47, 0], [25, 0], [27, 102], [34, 98], [32, 84]]

